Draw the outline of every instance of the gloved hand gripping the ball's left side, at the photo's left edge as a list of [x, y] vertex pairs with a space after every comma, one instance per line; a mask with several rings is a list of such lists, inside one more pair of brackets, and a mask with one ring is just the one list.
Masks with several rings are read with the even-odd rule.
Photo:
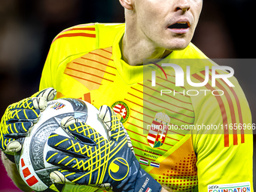
[[47, 107], [47, 101], [52, 100], [55, 95], [56, 90], [47, 88], [8, 106], [0, 123], [0, 149], [8, 157], [20, 151], [22, 146], [17, 139], [26, 136], [33, 123], [38, 121], [40, 111]]

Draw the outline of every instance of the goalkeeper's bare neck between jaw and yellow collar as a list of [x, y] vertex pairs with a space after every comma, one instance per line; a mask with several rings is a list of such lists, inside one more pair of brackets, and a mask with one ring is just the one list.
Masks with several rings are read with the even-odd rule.
[[[133, 24], [133, 26], [136, 26]], [[130, 66], [143, 65], [144, 59], [161, 59], [171, 53], [171, 50], [166, 50], [163, 47], [157, 47], [147, 38], [142, 32], [133, 29], [126, 23], [126, 31], [123, 35], [121, 51], [123, 60]]]

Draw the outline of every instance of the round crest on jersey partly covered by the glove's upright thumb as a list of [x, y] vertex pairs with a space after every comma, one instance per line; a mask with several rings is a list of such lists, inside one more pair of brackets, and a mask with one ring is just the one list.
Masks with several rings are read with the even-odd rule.
[[128, 120], [130, 116], [130, 108], [125, 102], [122, 102], [122, 101], [114, 102], [114, 104], [111, 105], [111, 108], [113, 108], [114, 112], [116, 112], [117, 114], [120, 114], [120, 117], [121, 117], [120, 121], [122, 123], [125, 123]]

